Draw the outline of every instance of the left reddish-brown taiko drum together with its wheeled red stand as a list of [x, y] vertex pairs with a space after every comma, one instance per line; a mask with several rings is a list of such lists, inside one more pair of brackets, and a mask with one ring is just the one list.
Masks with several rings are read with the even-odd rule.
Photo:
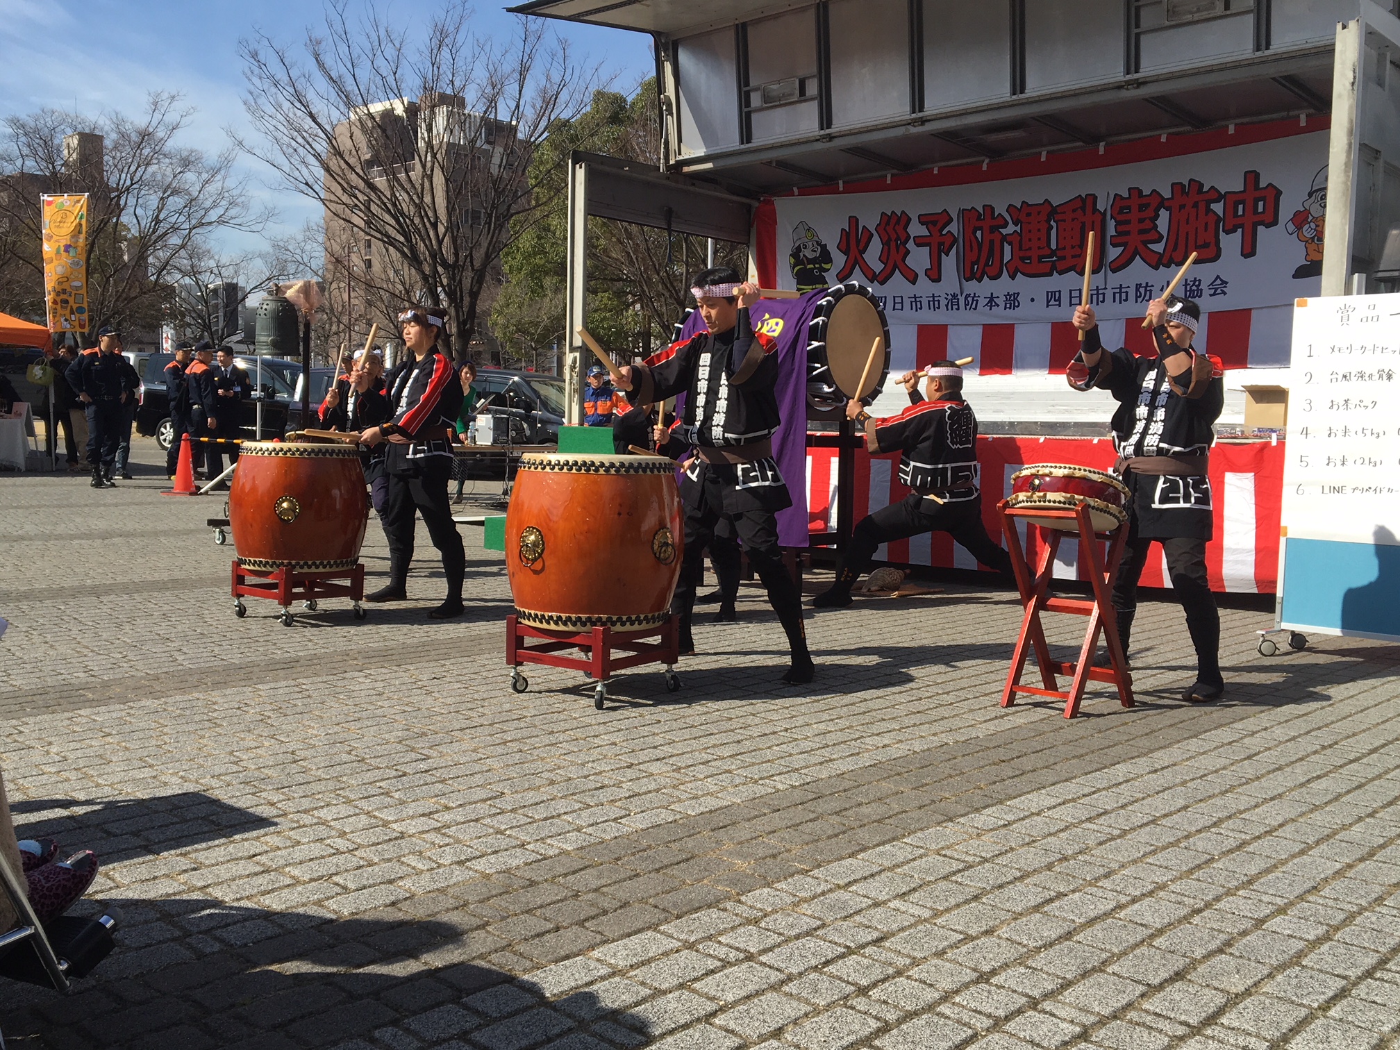
[[[234, 532], [234, 612], [242, 598], [270, 598], [291, 626], [291, 603], [350, 598], [364, 619], [368, 498], [356, 445], [244, 442], [228, 491]], [[335, 582], [335, 581], [346, 582]]]

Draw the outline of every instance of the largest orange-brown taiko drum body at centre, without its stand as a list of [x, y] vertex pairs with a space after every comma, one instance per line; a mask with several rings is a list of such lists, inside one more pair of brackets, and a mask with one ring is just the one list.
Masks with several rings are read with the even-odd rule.
[[505, 512], [505, 566], [522, 623], [648, 630], [680, 575], [675, 463], [661, 456], [521, 456]]

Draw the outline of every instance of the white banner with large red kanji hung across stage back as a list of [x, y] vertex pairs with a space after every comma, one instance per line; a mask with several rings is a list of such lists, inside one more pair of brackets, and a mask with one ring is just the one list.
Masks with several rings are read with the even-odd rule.
[[[1065, 339], [1051, 326], [1082, 294], [1092, 230], [1089, 302], [1102, 318], [1142, 316], [1196, 252], [1180, 290], [1207, 314], [1231, 315], [1222, 325], [1235, 333], [1260, 308], [1319, 294], [1327, 126], [1154, 136], [804, 189], [759, 210], [759, 276], [781, 288], [857, 280], [882, 298], [892, 328], [1005, 326], [997, 367], [1014, 367], [1022, 342], [1050, 363]], [[967, 336], [979, 350], [984, 339]], [[1247, 340], [1231, 346], [1256, 363]]]

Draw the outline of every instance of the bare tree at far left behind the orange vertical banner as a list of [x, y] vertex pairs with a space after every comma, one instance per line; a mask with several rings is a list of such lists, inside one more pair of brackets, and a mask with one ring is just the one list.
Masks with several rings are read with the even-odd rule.
[[88, 195], [88, 316], [154, 330], [171, 305], [179, 262], [216, 231], [260, 231], [270, 213], [234, 174], [237, 153], [178, 144], [193, 116], [179, 95], [155, 92], [139, 118], [60, 109], [11, 116], [0, 127], [0, 251], [14, 274], [0, 290], [43, 304], [39, 193]]

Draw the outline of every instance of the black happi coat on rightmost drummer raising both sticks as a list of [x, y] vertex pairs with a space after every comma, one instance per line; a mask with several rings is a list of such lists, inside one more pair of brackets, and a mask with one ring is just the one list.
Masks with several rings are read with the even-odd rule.
[[[1166, 328], [1154, 332], [1161, 350], [1173, 350]], [[1102, 350], [1099, 329], [1085, 333], [1084, 353]], [[1089, 368], [1085, 386], [1113, 395], [1113, 445], [1119, 469], [1133, 490], [1137, 533], [1144, 539], [1211, 539], [1214, 503], [1207, 456], [1215, 442], [1215, 420], [1225, 407], [1225, 381], [1218, 363], [1205, 354], [1191, 354], [1191, 368], [1176, 382], [1166, 372], [1161, 354], [1137, 357], [1131, 350], [1105, 353]], [[1082, 364], [1082, 360], [1081, 360]], [[1183, 385], [1187, 384], [1187, 385]], [[1152, 473], [1134, 470], [1134, 459], [1172, 459], [1180, 470]]]

